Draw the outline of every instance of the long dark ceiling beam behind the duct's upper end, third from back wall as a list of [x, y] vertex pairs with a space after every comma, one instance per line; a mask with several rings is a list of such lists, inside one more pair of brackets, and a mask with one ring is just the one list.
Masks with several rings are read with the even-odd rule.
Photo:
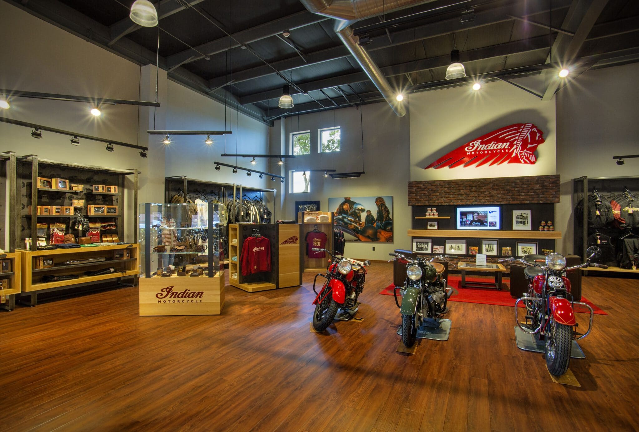
[[[553, 10], [566, 8], [570, 3], [571, 0], [557, 0], [553, 2]], [[509, 18], [508, 15], [525, 17], [544, 12], [548, 12], [546, 2], [517, 2], [515, 4], [509, 4], [508, 6], [501, 6], [499, 8], [477, 12], [475, 13], [475, 20], [473, 20], [473, 22], [462, 23], [459, 21], [459, 17], [457, 17], [449, 20], [433, 22], [432, 24], [426, 24], [424, 26], [417, 26], [397, 31], [395, 33], [391, 33], [392, 43], [389, 42], [389, 39], [386, 36], [372, 38], [371, 43], [366, 45], [366, 50], [370, 52], [378, 49], [385, 49], [397, 45], [403, 45], [404, 43], [413, 43], [415, 40], [424, 40], [434, 38], [436, 36], [447, 35], [454, 31], [475, 29], [477, 27], [489, 26], [491, 24], [512, 20], [512, 18]], [[306, 65], [313, 65], [324, 61], [344, 58], [349, 55], [348, 50], [340, 43], [339, 45], [335, 45], [335, 47], [305, 53], [306, 62], [300, 58], [287, 58], [278, 61], [271, 61], [269, 63], [273, 66], [273, 68], [280, 72], [284, 72], [286, 70], [300, 68]], [[273, 68], [267, 65], [260, 65], [254, 68], [233, 71], [233, 79], [237, 83], [264, 77], [266, 75], [272, 75], [275, 73]], [[220, 86], [226, 79], [227, 77], [224, 76], [215, 77], [209, 81], [209, 86], [210, 88]]]

